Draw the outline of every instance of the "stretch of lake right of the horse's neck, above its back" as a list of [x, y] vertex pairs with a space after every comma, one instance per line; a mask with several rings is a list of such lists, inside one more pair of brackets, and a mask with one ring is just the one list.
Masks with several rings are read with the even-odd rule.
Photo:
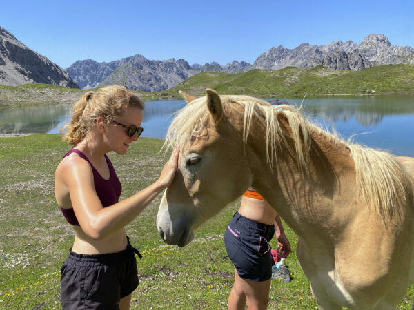
[[414, 156], [414, 96], [306, 99], [304, 114], [354, 143]]

